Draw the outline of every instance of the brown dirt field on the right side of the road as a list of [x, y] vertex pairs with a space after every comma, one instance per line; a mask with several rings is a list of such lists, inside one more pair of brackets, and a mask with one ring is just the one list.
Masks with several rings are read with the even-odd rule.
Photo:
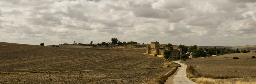
[[[204, 77], [248, 78], [256, 76], [256, 59], [252, 59], [252, 56], [256, 56], [256, 53], [234, 53], [182, 62], [194, 66], [195, 70]], [[239, 57], [239, 59], [233, 59], [233, 57]]]

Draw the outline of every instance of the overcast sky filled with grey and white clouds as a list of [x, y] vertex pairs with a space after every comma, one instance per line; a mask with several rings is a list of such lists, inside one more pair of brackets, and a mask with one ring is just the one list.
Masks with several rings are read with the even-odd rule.
[[256, 0], [1, 0], [0, 42], [256, 43]]

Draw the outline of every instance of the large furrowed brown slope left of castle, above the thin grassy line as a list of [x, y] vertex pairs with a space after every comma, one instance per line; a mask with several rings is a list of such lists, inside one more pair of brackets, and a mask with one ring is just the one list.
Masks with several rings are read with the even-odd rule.
[[[164, 59], [139, 49], [87, 49], [24, 45], [0, 42], [0, 72], [80, 71], [162, 67]], [[143, 50], [144, 51], [144, 50]]]

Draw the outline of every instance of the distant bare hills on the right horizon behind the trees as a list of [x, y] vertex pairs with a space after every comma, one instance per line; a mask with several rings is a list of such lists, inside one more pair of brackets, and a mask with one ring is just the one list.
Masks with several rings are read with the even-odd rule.
[[[214, 46], [198, 46], [198, 47], [203, 47], [203, 48], [214, 48]], [[247, 46], [216, 46], [216, 48], [228, 48], [232, 50], [256, 50], [256, 45], [247, 45]]]

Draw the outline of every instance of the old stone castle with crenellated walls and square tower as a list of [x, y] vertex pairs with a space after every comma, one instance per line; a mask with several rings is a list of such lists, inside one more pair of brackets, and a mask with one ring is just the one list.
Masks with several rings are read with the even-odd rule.
[[[146, 53], [151, 53], [151, 54], [157, 54], [157, 55], [164, 55], [164, 50], [170, 50], [170, 48], [165, 47], [165, 45], [160, 46], [159, 42], [151, 42], [150, 46], [146, 45]], [[171, 56], [177, 56], [181, 55], [182, 49], [178, 48], [171, 51]]]

